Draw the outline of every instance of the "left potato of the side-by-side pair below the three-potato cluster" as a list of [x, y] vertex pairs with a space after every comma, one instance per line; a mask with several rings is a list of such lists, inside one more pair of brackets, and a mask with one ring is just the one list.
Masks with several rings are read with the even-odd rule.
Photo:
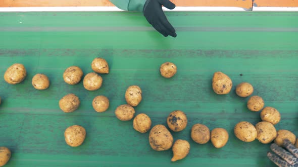
[[74, 112], [79, 106], [80, 100], [75, 94], [68, 94], [59, 101], [59, 107], [65, 113]]

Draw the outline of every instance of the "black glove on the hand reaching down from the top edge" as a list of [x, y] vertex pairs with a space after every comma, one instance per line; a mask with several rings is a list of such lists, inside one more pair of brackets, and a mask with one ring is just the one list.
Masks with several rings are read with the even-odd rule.
[[169, 0], [147, 0], [144, 5], [143, 14], [147, 21], [165, 37], [169, 35], [176, 37], [176, 31], [164, 14], [162, 5], [171, 10], [176, 7]]

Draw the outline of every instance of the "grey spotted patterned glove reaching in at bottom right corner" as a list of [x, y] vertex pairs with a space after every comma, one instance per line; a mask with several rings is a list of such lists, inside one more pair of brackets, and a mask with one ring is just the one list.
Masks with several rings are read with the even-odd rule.
[[292, 143], [288, 139], [285, 139], [283, 141], [283, 146], [287, 149], [287, 151], [282, 147], [279, 147], [275, 143], [271, 144], [271, 150], [278, 156], [271, 152], [268, 152], [267, 156], [269, 157], [269, 159], [279, 167], [298, 166], [298, 148], [292, 145]]

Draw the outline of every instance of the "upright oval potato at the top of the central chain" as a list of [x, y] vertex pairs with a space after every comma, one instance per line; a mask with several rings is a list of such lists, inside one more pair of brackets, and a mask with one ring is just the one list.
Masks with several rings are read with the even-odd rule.
[[137, 106], [142, 100], [142, 90], [138, 86], [130, 86], [125, 92], [125, 100], [130, 106]]

